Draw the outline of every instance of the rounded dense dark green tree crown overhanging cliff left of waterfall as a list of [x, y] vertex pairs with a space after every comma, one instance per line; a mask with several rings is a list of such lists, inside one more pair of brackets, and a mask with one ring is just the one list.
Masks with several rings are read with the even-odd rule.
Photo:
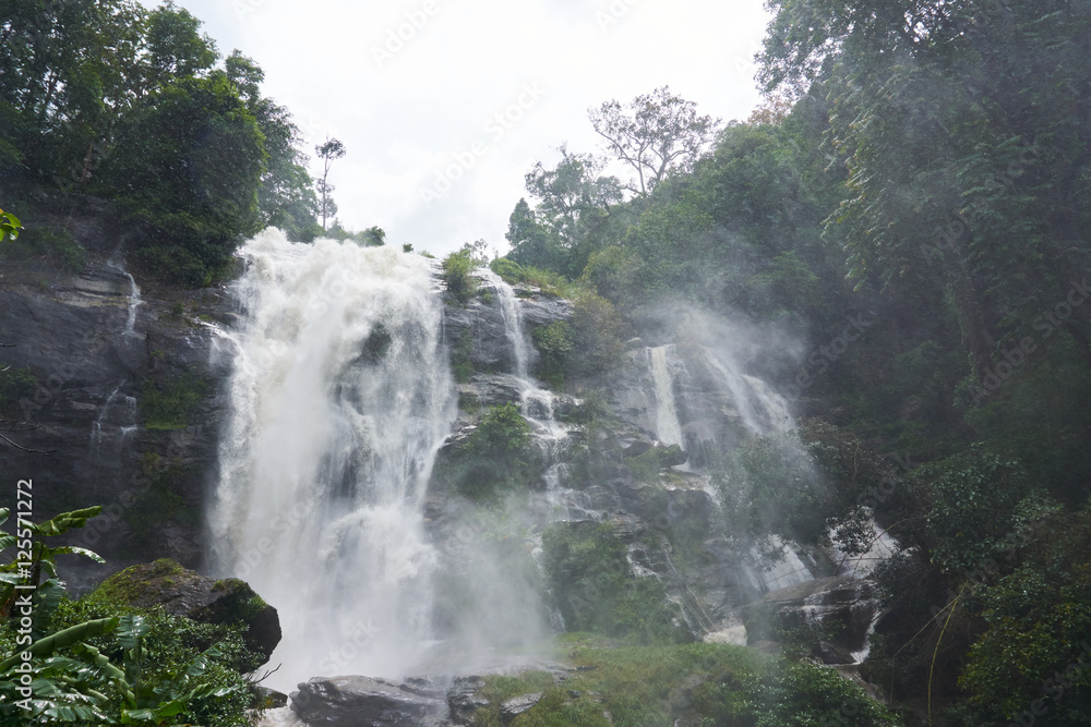
[[260, 227], [266, 156], [253, 113], [224, 73], [145, 98], [103, 169], [142, 232], [135, 259], [190, 287], [223, 278], [240, 235]]

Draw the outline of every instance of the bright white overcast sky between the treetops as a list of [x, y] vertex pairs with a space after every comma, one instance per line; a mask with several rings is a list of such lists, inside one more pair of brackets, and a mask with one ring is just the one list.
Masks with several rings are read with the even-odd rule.
[[176, 4], [221, 54], [264, 69], [264, 94], [291, 110], [309, 153], [327, 133], [345, 144], [331, 172], [343, 225], [433, 254], [480, 238], [506, 250], [533, 162], [555, 163], [563, 142], [601, 150], [592, 106], [669, 85], [702, 113], [745, 119], [768, 22], [762, 0]]

